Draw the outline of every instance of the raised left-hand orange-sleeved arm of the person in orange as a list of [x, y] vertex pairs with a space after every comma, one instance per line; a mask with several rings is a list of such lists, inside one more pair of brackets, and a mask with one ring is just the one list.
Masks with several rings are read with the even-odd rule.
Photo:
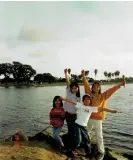
[[91, 93], [90, 85], [89, 85], [88, 80], [86, 79], [85, 71], [84, 70], [81, 71], [81, 75], [83, 77], [84, 91], [85, 91], [86, 94], [90, 94]]

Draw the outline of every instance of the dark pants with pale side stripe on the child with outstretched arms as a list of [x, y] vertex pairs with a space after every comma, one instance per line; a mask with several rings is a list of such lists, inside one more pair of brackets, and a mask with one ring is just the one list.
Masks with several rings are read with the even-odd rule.
[[90, 137], [88, 136], [87, 127], [74, 123], [75, 134], [73, 136], [73, 150], [80, 145], [81, 141], [84, 143], [84, 149], [86, 154], [90, 153]]

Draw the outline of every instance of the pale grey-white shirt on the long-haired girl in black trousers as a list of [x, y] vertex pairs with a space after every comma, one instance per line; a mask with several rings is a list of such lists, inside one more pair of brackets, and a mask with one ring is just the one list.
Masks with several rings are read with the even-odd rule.
[[[72, 99], [75, 102], [80, 102], [80, 98], [76, 97], [75, 94], [72, 94], [69, 87], [66, 88], [66, 98]], [[63, 106], [64, 106], [63, 108], [65, 109], [65, 111], [67, 111], [68, 113], [76, 114], [77, 109], [74, 104], [69, 103], [69, 102], [64, 102]]]

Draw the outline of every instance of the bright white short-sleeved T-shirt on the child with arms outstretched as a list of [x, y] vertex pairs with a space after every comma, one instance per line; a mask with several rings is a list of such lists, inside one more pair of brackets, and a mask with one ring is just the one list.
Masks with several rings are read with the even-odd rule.
[[78, 103], [75, 105], [77, 108], [77, 119], [75, 123], [81, 126], [87, 126], [88, 120], [92, 112], [98, 112], [98, 107], [85, 106], [84, 104]]

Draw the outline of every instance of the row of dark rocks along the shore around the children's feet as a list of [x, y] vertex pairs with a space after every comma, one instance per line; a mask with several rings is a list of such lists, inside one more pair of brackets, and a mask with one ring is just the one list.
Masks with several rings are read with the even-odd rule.
[[[32, 137], [27, 137], [23, 132], [17, 132], [16, 134], [9, 137], [5, 141], [16, 141], [16, 140], [17, 141], [39, 141], [39, 142], [44, 142], [45, 141], [52, 148], [57, 150], [57, 143], [56, 143], [55, 139], [50, 134], [51, 130], [48, 131], [48, 132], [46, 130], [44, 130], [44, 131], [39, 132], [35, 136], [32, 136]], [[16, 138], [16, 137], [18, 137], [18, 138]], [[69, 146], [68, 134], [63, 134], [61, 136], [61, 138], [62, 138], [62, 141], [64, 143], [65, 149], [67, 150], [67, 148]], [[92, 148], [91, 156], [96, 157], [97, 152], [98, 152], [98, 148], [97, 148], [96, 143], [92, 143], [91, 148]], [[78, 156], [76, 158], [69, 158], [68, 157], [67, 160], [86, 160], [85, 152], [84, 152], [84, 149], [83, 149], [83, 144], [81, 144], [80, 147], [78, 147], [78, 149], [76, 149], [76, 152], [78, 153]], [[111, 152], [112, 151], [110, 149], [105, 148], [105, 156], [104, 156], [103, 160], [117, 160], [116, 158], [114, 158], [112, 156]], [[123, 156], [128, 158], [129, 160], [133, 160], [132, 155], [123, 154]]]

